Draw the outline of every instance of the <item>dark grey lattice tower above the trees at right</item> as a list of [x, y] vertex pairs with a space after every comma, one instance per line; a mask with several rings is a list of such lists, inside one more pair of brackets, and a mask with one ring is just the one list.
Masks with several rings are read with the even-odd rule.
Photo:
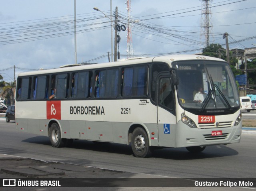
[[200, 0], [202, 2], [201, 29], [205, 37], [205, 45], [210, 45], [210, 33], [212, 30], [212, 12], [210, 4], [212, 0]]

